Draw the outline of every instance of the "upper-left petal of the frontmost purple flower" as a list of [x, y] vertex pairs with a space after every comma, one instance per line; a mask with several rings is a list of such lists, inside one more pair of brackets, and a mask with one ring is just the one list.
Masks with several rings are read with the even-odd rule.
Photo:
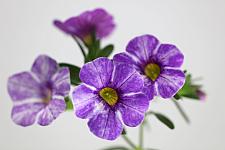
[[97, 58], [86, 63], [80, 70], [80, 79], [98, 89], [106, 86], [111, 79], [113, 63], [107, 58]]

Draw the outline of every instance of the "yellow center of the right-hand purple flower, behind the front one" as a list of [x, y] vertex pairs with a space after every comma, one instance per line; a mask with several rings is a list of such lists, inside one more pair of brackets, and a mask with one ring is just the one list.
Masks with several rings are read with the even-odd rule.
[[145, 75], [152, 81], [155, 81], [160, 74], [160, 67], [155, 63], [150, 63], [145, 66]]

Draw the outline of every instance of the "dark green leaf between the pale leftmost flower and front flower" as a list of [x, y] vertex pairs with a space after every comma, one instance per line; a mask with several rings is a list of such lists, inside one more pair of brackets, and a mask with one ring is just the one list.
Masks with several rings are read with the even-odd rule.
[[60, 67], [68, 67], [70, 70], [70, 81], [72, 85], [79, 85], [80, 84], [80, 78], [79, 78], [79, 73], [80, 73], [80, 67], [67, 64], [67, 63], [59, 63]]

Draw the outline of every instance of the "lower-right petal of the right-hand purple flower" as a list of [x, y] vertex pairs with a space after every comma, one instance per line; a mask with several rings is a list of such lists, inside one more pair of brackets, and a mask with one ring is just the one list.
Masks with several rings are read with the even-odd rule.
[[162, 98], [173, 97], [184, 85], [185, 75], [180, 70], [165, 69], [157, 79], [158, 92]]

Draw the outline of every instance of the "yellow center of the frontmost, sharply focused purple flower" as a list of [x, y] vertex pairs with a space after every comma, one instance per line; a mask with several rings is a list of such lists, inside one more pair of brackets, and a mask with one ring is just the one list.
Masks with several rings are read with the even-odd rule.
[[109, 87], [101, 89], [99, 95], [110, 106], [114, 106], [118, 101], [118, 95], [116, 90]]

